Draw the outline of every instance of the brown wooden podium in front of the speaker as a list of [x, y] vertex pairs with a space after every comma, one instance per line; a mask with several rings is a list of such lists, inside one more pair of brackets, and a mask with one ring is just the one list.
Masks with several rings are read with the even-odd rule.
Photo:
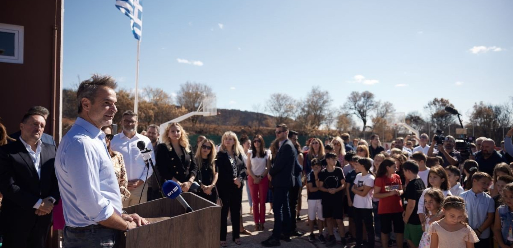
[[[124, 210], [152, 223], [126, 232], [126, 248], [219, 247], [221, 207], [196, 194], [182, 193], [194, 210], [185, 213], [176, 199], [161, 198]], [[123, 242], [122, 242], [123, 243]]]

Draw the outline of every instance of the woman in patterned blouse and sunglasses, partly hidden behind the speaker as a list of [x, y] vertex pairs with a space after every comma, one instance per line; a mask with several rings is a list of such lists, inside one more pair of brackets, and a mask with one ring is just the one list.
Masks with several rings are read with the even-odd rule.
[[130, 191], [128, 191], [128, 178], [127, 178], [127, 170], [125, 168], [125, 161], [123, 160], [123, 155], [117, 151], [113, 151], [110, 149], [110, 141], [114, 137], [112, 133], [111, 126], [102, 127], [102, 131], [105, 132], [105, 143], [107, 144], [107, 150], [110, 154], [110, 160], [112, 160], [112, 164], [114, 165], [114, 172], [117, 177], [117, 184], [120, 186], [121, 192], [121, 201], [128, 200], [130, 198]]

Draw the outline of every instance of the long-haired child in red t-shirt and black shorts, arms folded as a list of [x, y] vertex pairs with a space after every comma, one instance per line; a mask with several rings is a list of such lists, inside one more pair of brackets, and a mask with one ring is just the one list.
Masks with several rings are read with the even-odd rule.
[[385, 159], [378, 168], [374, 181], [374, 197], [380, 199], [378, 214], [381, 218], [381, 245], [388, 247], [388, 234], [396, 233], [397, 247], [403, 248], [403, 202], [404, 193], [401, 178], [396, 174], [396, 162]]

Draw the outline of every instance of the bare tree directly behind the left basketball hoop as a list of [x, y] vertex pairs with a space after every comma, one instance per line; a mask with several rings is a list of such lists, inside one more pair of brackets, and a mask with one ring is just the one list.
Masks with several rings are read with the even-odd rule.
[[[188, 112], [197, 111], [203, 100], [207, 97], [214, 96], [212, 88], [203, 83], [186, 82], [180, 85], [180, 91], [176, 94], [176, 102], [185, 107]], [[190, 118], [192, 126], [200, 120], [199, 116]]]

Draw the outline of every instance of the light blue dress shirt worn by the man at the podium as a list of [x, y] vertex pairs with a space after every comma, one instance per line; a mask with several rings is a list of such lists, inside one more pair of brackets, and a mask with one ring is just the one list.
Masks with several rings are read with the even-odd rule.
[[82, 118], [63, 137], [55, 174], [68, 227], [86, 227], [122, 213], [121, 193], [105, 133]]

